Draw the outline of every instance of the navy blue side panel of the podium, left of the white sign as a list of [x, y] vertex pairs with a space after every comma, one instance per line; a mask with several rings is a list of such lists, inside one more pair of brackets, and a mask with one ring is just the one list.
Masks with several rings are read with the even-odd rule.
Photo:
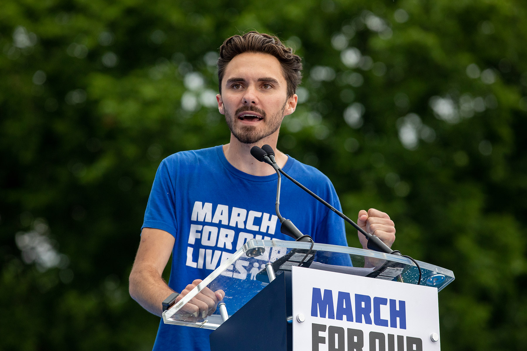
[[291, 314], [291, 273], [284, 272], [210, 334], [210, 349], [290, 351]]

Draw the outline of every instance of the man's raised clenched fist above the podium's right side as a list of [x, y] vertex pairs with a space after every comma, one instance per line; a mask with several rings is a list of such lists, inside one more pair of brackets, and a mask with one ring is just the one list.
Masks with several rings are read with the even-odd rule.
[[[366, 233], [377, 236], [383, 242], [392, 247], [392, 244], [395, 241], [395, 224], [390, 216], [386, 213], [381, 212], [375, 208], [368, 209], [366, 212], [364, 209], [359, 211], [357, 218], [357, 224], [359, 227], [363, 228]], [[359, 236], [360, 244], [364, 249], [367, 249], [368, 240], [366, 237], [357, 231]]]

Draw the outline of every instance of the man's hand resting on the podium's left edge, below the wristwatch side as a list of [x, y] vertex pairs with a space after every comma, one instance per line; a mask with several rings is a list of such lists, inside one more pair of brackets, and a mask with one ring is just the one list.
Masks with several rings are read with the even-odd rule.
[[[180, 293], [180, 295], [175, 299], [174, 303], [179, 302], [185, 295], [191, 292], [195, 288], [201, 279], [196, 279], [192, 284], [187, 285], [186, 288]], [[196, 319], [205, 318], [210, 316], [216, 311], [218, 303], [225, 297], [225, 292], [223, 290], [216, 290], [213, 292], [208, 287], [205, 287], [198, 295], [194, 296], [187, 304], [185, 304], [178, 311], [178, 315], [190, 319], [195, 317]]]

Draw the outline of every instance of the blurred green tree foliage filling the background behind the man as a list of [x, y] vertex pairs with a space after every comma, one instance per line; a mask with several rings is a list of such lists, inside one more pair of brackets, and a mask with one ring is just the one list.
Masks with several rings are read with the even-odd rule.
[[257, 29], [304, 60], [278, 147], [454, 271], [443, 349], [520, 349], [525, 18], [521, 0], [0, 2], [0, 348], [151, 348], [128, 274], [153, 176], [228, 142], [214, 53]]

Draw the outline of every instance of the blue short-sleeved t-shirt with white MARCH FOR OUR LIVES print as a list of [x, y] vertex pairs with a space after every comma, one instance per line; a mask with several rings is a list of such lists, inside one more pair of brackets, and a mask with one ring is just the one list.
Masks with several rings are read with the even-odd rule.
[[[270, 167], [270, 166], [269, 166]], [[333, 184], [318, 169], [289, 156], [284, 171], [341, 210]], [[207, 277], [247, 240], [293, 240], [275, 214], [277, 175], [254, 176], [233, 167], [222, 146], [165, 158], [155, 175], [143, 226], [175, 238], [168, 285], [177, 292]], [[347, 246], [344, 220], [282, 177], [280, 214], [316, 243]], [[210, 350], [212, 330], [164, 324], [154, 350]]]

